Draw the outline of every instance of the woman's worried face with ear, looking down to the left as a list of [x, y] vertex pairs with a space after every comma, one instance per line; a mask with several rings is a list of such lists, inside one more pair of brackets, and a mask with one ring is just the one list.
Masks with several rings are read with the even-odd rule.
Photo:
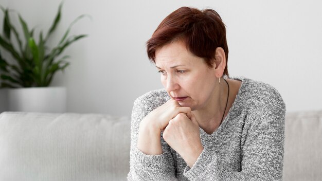
[[167, 93], [181, 106], [203, 110], [214, 101], [217, 90], [215, 69], [188, 51], [182, 41], [157, 49], [155, 65]]

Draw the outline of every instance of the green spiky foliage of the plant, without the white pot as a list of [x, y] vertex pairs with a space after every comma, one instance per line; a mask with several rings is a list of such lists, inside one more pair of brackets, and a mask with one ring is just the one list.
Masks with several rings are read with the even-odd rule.
[[[34, 28], [29, 30], [28, 25], [23, 17], [18, 13], [19, 22], [22, 27], [23, 35], [17, 31], [10, 22], [10, 10], [0, 8], [4, 12], [4, 34], [0, 35], [0, 47], [11, 53], [16, 63], [10, 64], [0, 55], [0, 71], [3, 73], [0, 76], [1, 87], [32, 87], [32, 86], [49, 86], [52, 78], [57, 71], [63, 71], [69, 63], [65, 61], [69, 56], [64, 56], [58, 61], [56, 59], [70, 44], [86, 37], [87, 35], [74, 35], [69, 37], [71, 27], [85, 15], [77, 17], [67, 28], [61, 37], [58, 45], [49, 49], [46, 45], [46, 40], [58, 27], [61, 20], [62, 3], [58, 8], [56, 17], [48, 30], [46, 37], [43, 36], [43, 31], [39, 31], [39, 41], [37, 44], [33, 38]], [[13, 34], [11, 34], [13, 33]], [[16, 42], [12, 43], [12, 36]], [[11, 39], [10, 39], [11, 38]], [[21, 38], [23, 40], [21, 40]], [[14, 45], [19, 45], [20, 51], [16, 51]]]

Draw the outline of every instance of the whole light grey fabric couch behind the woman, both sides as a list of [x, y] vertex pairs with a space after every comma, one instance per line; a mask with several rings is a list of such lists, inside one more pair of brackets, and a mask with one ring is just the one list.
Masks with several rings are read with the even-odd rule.
[[[0, 114], [0, 180], [126, 180], [127, 117]], [[284, 180], [322, 179], [322, 111], [288, 113]]]

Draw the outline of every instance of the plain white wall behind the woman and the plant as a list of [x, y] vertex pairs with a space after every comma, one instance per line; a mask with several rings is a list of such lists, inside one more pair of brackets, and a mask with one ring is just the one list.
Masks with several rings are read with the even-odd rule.
[[[60, 1], [0, 0], [29, 27], [48, 30]], [[68, 89], [67, 110], [130, 115], [135, 98], [162, 88], [146, 56], [145, 43], [157, 25], [182, 6], [213, 8], [227, 28], [230, 76], [276, 87], [287, 111], [322, 109], [322, 3], [320, 1], [100, 1], [65, 0], [55, 45], [80, 14], [71, 33], [88, 38], [65, 51], [71, 65], [51, 86]], [[3, 14], [0, 14], [1, 30]], [[17, 20], [12, 20], [19, 27]], [[37, 31], [36, 31], [37, 33]]]

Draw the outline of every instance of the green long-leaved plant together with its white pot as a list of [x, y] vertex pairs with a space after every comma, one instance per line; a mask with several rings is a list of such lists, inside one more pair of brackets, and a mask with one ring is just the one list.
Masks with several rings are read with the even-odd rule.
[[0, 87], [6, 88], [8, 101], [5, 111], [65, 112], [66, 89], [49, 85], [55, 74], [69, 65], [66, 62], [69, 56], [62, 56], [65, 48], [86, 37], [86, 34], [69, 35], [70, 28], [84, 15], [78, 16], [69, 25], [56, 47], [49, 48], [48, 39], [61, 20], [62, 4], [46, 35], [39, 31], [38, 41], [34, 38], [34, 28], [30, 30], [20, 14], [18, 17], [23, 36], [11, 24], [10, 10], [0, 8], [4, 13], [0, 47], [11, 55], [10, 61], [7, 61], [0, 51]]

